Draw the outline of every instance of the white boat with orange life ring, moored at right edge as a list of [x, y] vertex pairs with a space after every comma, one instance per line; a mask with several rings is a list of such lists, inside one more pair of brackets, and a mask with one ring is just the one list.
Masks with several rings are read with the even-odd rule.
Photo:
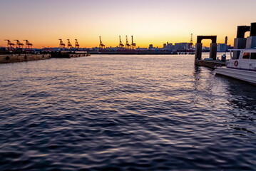
[[[238, 58], [234, 52], [238, 52]], [[225, 67], [216, 68], [215, 73], [256, 85], [256, 48], [230, 50], [230, 60], [226, 61]]]

